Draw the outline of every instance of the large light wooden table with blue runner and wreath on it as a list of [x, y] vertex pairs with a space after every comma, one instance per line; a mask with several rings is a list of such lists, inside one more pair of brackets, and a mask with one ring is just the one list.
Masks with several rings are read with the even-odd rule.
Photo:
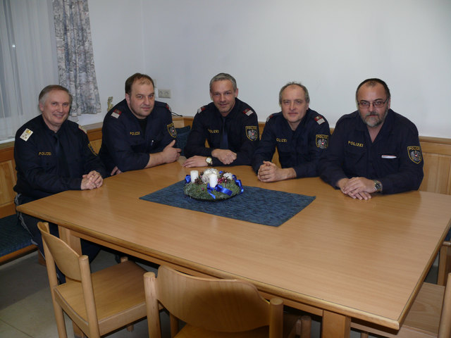
[[175, 162], [19, 210], [60, 225], [61, 238], [78, 250], [82, 237], [187, 273], [249, 280], [266, 297], [321, 315], [322, 337], [349, 337], [350, 320], [400, 328], [450, 227], [451, 196], [357, 201], [318, 177], [261, 183], [250, 167], [230, 170], [244, 185], [316, 199], [280, 227], [140, 200], [184, 179], [190, 169]]

